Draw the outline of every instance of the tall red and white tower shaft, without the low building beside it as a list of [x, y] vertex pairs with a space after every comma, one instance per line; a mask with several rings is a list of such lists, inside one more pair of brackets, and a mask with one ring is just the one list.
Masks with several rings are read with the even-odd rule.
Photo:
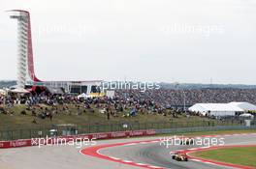
[[30, 14], [23, 10], [10, 12], [10, 17], [17, 19], [17, 88], [24, 88], [27, 81], [41, 81], [34, 70]]

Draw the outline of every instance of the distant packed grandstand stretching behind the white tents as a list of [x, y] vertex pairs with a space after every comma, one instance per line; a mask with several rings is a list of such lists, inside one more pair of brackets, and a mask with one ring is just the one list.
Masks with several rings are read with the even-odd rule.
[[231, 102], [247, 101], [256, 103], [256, 89], [185, 89], [185, 90], [147, 90], [144, 93], [137, 90], [116, 90], [119, 99], [134, 99], [138, 101], [151, 100], [164, 107], [193, 105], [199, 102]]

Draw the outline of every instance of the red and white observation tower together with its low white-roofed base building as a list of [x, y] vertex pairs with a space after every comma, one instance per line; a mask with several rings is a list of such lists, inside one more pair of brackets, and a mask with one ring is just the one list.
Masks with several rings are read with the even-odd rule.
[[102, 80], [90, 81], [42, 81], [34, 70], [30, 14], [23, 10], [11, 10], [10, 17], [17, 20], [17, 88], [26, 85], [63, 88], [66, 92], [87, 93], [95, 91]]

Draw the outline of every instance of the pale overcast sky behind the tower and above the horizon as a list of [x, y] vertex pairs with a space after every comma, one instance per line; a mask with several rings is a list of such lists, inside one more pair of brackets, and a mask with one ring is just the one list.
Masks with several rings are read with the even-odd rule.
[[[256, 71], [252, 0], [0, 0], [0, 4], [2, 79], [16, 78], [16, 22], [4, 11], [25, 9], [31, 13], [34, 60], [43, 79], [127, 76], [208, 83], [212, 77], [219, 83], [256, 83], [250, 77]], [[219, 25], [224, 32], [166, 35], [163, 27], [174, 24]]]

